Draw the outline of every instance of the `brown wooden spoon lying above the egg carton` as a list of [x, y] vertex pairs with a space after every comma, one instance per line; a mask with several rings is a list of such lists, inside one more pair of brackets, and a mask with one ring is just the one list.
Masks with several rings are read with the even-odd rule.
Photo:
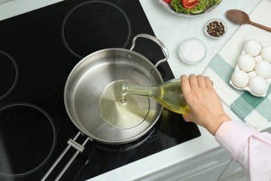
[[242, 10], [228, 10], [226, 13], [227, 18], [236, 24], [251, 24], [253, 26], [257, 26], [260, 29], [264, 29], [266, 31], [271, 32], [271, 29], [267, 26], [263, 26], [261, 24], [255, 23], [250, 21], [249, 16], [247, 13], [243, 12]]

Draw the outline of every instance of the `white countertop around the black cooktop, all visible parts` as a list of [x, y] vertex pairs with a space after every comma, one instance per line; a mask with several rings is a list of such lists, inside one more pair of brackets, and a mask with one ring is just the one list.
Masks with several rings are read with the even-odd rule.
[[[0, 20], [26, 13], [29, 10], [41, 8], [58, 1], [61, 0], [13, 0], [1, 3]], [[236, 29], [238, 29], [238, 25], [232, 24], [226, 19], [224, 13], [227, 10], [234, 8], [250, 13], [259, 1], [260, 0], [254, 0], [247, 3], [247, 1], [242, 0], [223, 0], [215, 10], [199, 17], [179, 17], [173, 15], [164, 10], [156, 0], [140, 0], [140, 3], [145, 10], [156, 37], [165, 44], [170, 52], [168, 63], [172, 68], [174, 76], [179, 77], [181, 74], [202, 74], [213, 56], [217, 54], [225, 42], [227, 42]], [[205, 22], [214, 17], [220, 18], [227, 23], [228, 31], [226, 35], [220, 39], [207, 38], [203, 31]], [[202, 63], [197, 65], [186, 65], [181, 62], [178, 56], [177, 49], [179, 44], [182, 40], [190, 37], [199, 38], [207, 47], [206, 58], [204, 58]], [[224, 109], [232, 119], [238, 119], [227, 107], [224, 107]], [[135, 180], [136, 178], [142, 177], [142, 175], [149, 175], [150, 173], [154, 173], [219, 147], [214, 137], [209, 134], [206, 129], [199, 127], [199, 130], [202, 136], [199, 136], [197, 139], [192, 139], [191, 141], [181, 143], [162, 152], [127, 164], [126, 166], [99, 175], [92, 180]]]

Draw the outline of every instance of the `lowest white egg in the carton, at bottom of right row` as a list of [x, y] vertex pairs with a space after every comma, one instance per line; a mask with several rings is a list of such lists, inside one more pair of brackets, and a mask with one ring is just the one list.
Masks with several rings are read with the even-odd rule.
[[249, 88], [254, 94], [264, 94], [268, 88], [268, 82], [263, 77], [255, 76], [249, 80]]

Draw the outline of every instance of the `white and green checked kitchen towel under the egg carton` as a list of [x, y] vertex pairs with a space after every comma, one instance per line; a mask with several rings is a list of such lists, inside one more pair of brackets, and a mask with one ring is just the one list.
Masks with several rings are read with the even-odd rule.
[[[270, 5], [270, 1], [261, 1], [252, 10], [249, 17], [256, 22], [261, 22], [262, 15], [271, 16]], [[265, 21], [263, 24], [271, 26], [271, 22]], [[271, 121], [271, 86], [268, 88], [266, 97], [254, 97], [247, 91], [238, 91], [229, 85], [231, 74], [237, 65], [238, 56], [242, 53], [243, 45], [248, 39], [271, 45], [270, 32], [249, 24], [243, 24], [212, 58], [204, 74], [213, 80], [213, 86], [221, 100], [241, 120], [255, 129], [262, 130]]]

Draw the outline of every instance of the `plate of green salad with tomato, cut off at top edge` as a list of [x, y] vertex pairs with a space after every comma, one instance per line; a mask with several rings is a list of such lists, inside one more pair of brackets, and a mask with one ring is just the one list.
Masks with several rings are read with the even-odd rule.
[[203, 15], [216, 8], [222, 0], [158, 0], [170, 13], [184, 17]]

